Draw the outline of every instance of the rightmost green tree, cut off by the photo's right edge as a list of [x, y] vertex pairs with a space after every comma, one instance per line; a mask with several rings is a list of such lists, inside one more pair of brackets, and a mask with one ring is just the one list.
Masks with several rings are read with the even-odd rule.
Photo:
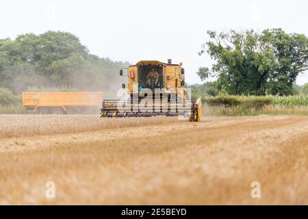
[[270, 94], [292, 94], [298, 74], [308, 70], [308, 38], [304, 34], [287, 34], [282, 29], [266, 29], [261, 42], [274, 50], [278, 66], [270, 77]]

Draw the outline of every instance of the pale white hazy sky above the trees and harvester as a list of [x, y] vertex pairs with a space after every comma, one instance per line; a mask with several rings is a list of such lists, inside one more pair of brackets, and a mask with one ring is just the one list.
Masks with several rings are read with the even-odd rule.
[[[0, 38], [69, 31], [100, 57], [183, 62], [186, 81], [200, 83], [198, 67], [211, 66], [209, 57], [198, 56], [207, 29], [281, 27], [308, 36], [307, 9], [305, 0], [2, 0]], [[298, 77], [298, 84], [307, 82]]]

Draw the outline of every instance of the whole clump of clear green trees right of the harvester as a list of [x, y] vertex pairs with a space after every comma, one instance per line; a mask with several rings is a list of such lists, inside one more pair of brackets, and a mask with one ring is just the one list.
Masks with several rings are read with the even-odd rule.
[[[214, 60], [198, 69], [201, 80], [215, 77], [219, 92], [234, 95], [292, 95], [300, 73], [308, 70], [308, 38], [282, 29], [207, 31], [209, 40], [199, 55]], [[303, 88], [304, 92], [305, 89]]]

